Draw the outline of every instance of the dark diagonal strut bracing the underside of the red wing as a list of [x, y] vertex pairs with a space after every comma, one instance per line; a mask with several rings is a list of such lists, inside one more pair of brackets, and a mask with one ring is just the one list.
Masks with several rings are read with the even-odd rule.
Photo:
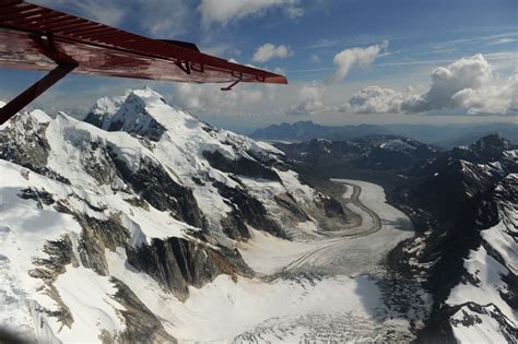
[[0, 108], [0, 126], [7, 122], [11, 117], [21, 111], [31, 102], [40, 96], [45, 91], [50, 88], [55, 83], [63, 79], [68, 73], [73, 71], [78, 64], [63, 63], [58, 64], [55, 69], [48, 72], [47, 75], [38, 80], [34, 85], [25, 90], [14, 99]]

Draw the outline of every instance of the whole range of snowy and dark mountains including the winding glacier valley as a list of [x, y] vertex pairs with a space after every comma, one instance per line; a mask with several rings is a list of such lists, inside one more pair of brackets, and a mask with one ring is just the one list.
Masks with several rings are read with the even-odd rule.
[[518, 147], [350, 129], [272, 145], [150, 88], [84, 120], [19, 114], [0, 127], [0, 335], [516, 341]]

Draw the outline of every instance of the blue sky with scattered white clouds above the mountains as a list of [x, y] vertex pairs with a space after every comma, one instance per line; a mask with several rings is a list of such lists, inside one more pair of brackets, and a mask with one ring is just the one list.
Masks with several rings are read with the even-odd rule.
[[[270, 123], [518, 122], [516, 0], [33, 0], [287, 76], [221, 85], [70, 75], [32, 106], [84, 116], [150, 86], [239, 132]], [[0, 70], [0, 99], [42, 76]]]

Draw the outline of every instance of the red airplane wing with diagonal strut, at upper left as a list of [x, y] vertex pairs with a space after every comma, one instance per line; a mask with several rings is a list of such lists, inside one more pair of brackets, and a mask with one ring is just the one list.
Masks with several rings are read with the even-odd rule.
[[13, 116], [7, 111], [21, 110], [70, 72], [232, 83], [223, 91], [239, 82], [287, 84], [283, 75], [200, 52], [190, 43], [148, 38], [22, 0], [0, 1], [0, 68], [50, 71], [13, 108], [16, 99], [0, 109], [0, 124]]

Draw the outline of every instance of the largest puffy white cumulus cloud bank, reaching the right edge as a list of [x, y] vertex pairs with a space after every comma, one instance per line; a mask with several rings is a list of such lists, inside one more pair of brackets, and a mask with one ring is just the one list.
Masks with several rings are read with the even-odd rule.
[[356, 114], [416, 114], [460, 108], [468, 114], [516, 112], [518, 109], [518, 74], [505, 82], [493, 75], [493, 67], [482, 56], [462, 58], [432, 72], [429, 90], [409, 94], [368, 86], [342, 106]]

